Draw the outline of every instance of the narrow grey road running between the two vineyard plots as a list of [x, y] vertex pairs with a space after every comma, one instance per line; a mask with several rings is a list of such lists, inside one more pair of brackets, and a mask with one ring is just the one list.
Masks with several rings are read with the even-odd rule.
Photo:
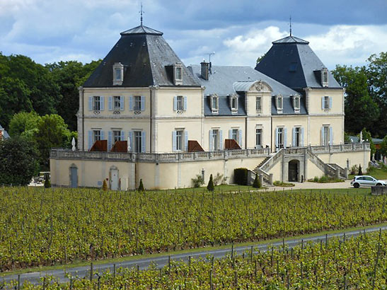
[[[289, 247], [292, 248], [295, 245], [298, 245], [302, 242], [308, 243], [309, 241], [314, 242], [314, 243], [319, 243], [320, 240], [325, 240], [325, 238], [334, 238], [334, 237], [340, 237], [342, 238], [345, 234], [346, 238], [354, 237], [354, 236], [359, 236], [361, 233], [371, 233], [375, 231], [386, 231], [387, 226], [374, 226], [372, 228], [366, 228], [365, 230], [357, 230], [357, 231], [341, 231], [340, 233], [331, 233], [328, 235], [321, 235], [321, 236], [313, 236], [311, 238], [304, 238], [304, 239], [291, 239], [291, 240], [285, 240], [284, 243]], [[265, 251], [269, 247], [271, 248], [272, 246], [277, 247], [279, 245], [282, 245], [282, 241], [277, 242], [277, 243], [260, 243], [257, 245], [253, 245], [253, 248], [255, 251], [260, 250]], [[251, 245], [249, 246], [241, 246], [241, 247], [233, 247], [233, 251], [235, 255], [242, 255], [243, 252], [246, 250], [250, 250]], [[219, 259], [222, 257], [225, 257], [226, 255], [231, 254], [231, 246], [230, 248], [226, 249], [220, 249], [220, 250], [200, 250], [198, 249], [197, 251], [190, 252], [190, 253], [183, 253], [183, 254], [171, 254], [171, 260], [181, 260], [187, 262], [189, 257], [193, 257], [195, 259], [199, 259], [200, 257], [206, 257], [207, 255], [213, 255], [214, 258]], [[161, 268], [164, 267], [165, 265], [168, 265], [168, 255], [165, 256], [159, 256], [159, 257], [147, 257], [144, 259], [138, 259], [138, 260], [128, 260], [124, 262], [118, 262], [115, 264], [115, 266], [118, 267], [125, 267], [125, 268], [131, 268], [131, 267], [139, 267], [139, 269], [146, 269], [149, 267], [151, 263], [156, 263], [156, 267]], [[113, 263], [105, 263], [105, 264], [100, 264], [100, 265], [94, 265], [93, 266], [93, 273], [96, 272], [105, 272], [108, 269], [110, 272], [113, 271], [114, 264]], [[83, 267], [69, 267], [67, 269], [54, 269], [54, 270], [48, 270], [48, 271], [42, 271], [42, 272], [31, 272], [31, 273], [25, 273], [20, 275], [20, 281], [21, 284], [23, 284], [24, 281], [29, 281], [33, 284], [41, 284], [41, 278], [45, 276], [54, 276], [59, 279], [59, 282], [69, 282], [68, 277], [90, 277], [90, 266], [83, 266]], [[96, 274], [93, 275], [95, 279], [97, 279]], [[17, 281], [18, 280], [18, 275], [16, 274], [9, 274], [4, 277], [0, 278], [0, 281], [4, 282], [11, 282], [12, 280]]]

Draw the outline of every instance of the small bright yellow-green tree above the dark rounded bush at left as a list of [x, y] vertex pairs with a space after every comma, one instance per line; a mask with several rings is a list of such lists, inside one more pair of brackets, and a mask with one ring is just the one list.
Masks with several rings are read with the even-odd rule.
[[20, 136], [26, 131], [37, 129], [37, 123], [42, 118], [36, 112], [18, 112], [13, 115], [9, 123], [8, 133], [11, 136]]

